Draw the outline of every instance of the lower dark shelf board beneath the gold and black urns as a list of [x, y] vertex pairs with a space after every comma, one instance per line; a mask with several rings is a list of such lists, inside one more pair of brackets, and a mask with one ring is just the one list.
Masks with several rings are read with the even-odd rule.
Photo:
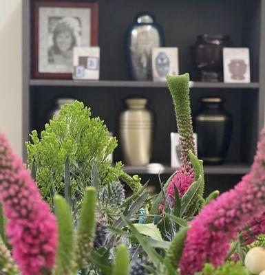
[[[222, 164], [209, 166], [204, 165], [206, 175], [244, 175], [249, 172], [251, 166], [248, 164]], [[178, 168], [172, 168], [165, 164], [149, 164], [147, 166], [124, 166], [128, 174], [173, 174]]]

